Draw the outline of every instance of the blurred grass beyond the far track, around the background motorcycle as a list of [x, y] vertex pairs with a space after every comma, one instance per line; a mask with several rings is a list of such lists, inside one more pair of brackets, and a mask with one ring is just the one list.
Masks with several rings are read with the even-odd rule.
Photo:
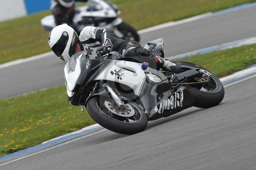
[[[112, 0], [121, 17], [136, 29], [188, 18], [256, 0]], [[0, 64], [50, 51], [48, 31], [40, 20], [51, 14], [45, 11], [0, 23]]]

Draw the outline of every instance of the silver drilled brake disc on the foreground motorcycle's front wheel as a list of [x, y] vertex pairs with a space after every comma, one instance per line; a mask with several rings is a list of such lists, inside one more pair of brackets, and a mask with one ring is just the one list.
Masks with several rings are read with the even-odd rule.
[[135, 111], [130, 104], [125, 104], [124, 107], [118, 107], [114, 101], [105, 100], [105, 106], [110, 112], [118, 116], [132, 117], [135, 114]]

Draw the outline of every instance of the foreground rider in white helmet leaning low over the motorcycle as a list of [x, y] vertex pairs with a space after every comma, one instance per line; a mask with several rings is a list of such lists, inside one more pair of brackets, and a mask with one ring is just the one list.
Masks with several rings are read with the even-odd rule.
[[49, 46], [62, 60], [68, 59], [79, 51], [86, 52], [86, 58], [111, 59], [111, 51], [121, 54], [120, 58], [133, 62], [148, 62], [151, 68], [163, 68], [173, 73], [180, 72], [180, 63], [171, 62], [141, 47], [132, 40], [121, 40], [114, 37], [111, 29], [100, 29], [87, 26], [81, 31], [79, 37], [76, 31], [67, 24], [53, 28], [49, 34]]

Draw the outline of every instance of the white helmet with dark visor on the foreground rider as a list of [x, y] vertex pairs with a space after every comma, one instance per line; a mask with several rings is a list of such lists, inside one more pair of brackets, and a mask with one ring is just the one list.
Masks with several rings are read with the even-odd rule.
[[68, 26], [68, 24], [62, 24], [53, 28], [49, 34], [48, 43], [52, 51], [63, 61], [75, 54], [76, 44], [79, 41], [79, 37], [76, 31]]

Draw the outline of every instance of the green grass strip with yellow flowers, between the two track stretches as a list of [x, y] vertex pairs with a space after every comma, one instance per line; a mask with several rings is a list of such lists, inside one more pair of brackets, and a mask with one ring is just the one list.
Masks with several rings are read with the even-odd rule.
[[[224, 76], [256, 63], [256, 44], [181, 59]], [[67, 102], [58, 86], [0, 101], [0, 156], [35, 146], [94, 123], [87, 111]]]

